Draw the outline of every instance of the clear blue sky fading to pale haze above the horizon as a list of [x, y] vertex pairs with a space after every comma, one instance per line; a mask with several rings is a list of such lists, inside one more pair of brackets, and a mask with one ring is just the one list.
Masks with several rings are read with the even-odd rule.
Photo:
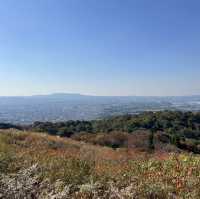
[[199, 0], [0, 0], [0, 95], [200, 94]]

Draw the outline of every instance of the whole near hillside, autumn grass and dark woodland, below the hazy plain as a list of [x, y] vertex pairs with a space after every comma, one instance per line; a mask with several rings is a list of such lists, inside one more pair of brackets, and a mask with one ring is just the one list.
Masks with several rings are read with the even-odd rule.
[[0, 127], [0, 198], [200, 198], [200, 113]]

